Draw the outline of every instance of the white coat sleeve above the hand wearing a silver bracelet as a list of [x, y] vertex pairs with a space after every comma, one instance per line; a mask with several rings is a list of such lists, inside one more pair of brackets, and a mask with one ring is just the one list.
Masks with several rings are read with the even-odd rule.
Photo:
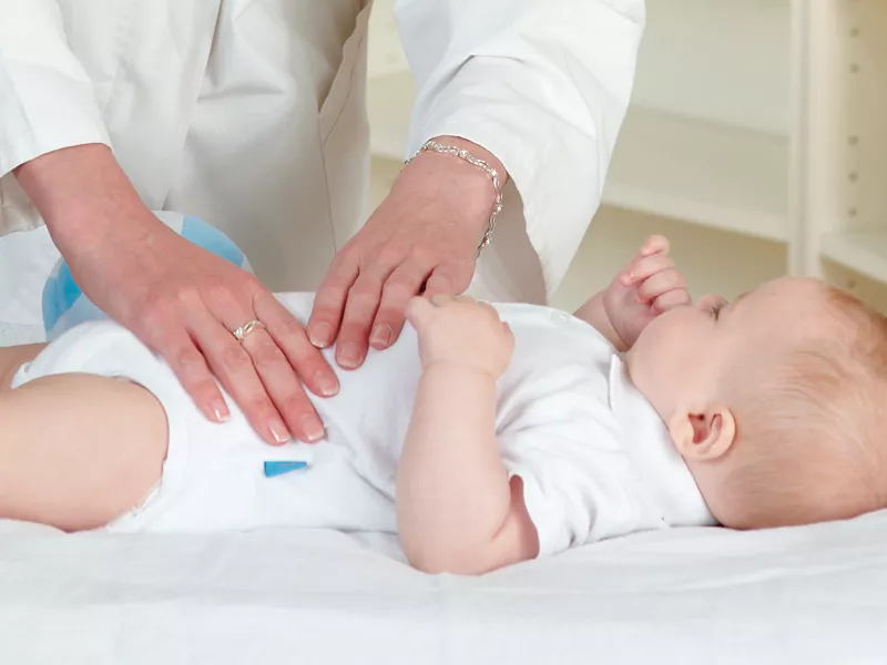
[[417, 84], [408, 150], [482, 145], [523, 201], [549, 296], [597, 211], [631, 96], [643, 0], [399, 0]]

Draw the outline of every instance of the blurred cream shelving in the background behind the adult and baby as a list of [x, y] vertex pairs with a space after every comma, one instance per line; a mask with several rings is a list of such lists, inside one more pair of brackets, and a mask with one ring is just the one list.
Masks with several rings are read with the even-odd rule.
[[[646, 6], [603, 205], [554, 305], [581, 304], [659, 233], [694, 296], [792, 273], [887, 309], [887, 2]], [[375, 0], [373, 205], [400, 168], [412, 96], [392, 0]]]

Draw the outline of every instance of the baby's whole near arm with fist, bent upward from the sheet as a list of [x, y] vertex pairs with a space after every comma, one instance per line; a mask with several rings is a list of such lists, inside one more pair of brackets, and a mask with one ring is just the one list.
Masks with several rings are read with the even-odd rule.
[[513, 338], [489, 305], [416, 298], [422, 376], [397, 472], [397, 521], [410, 563], [477, 574], [533, 559], [538, 536], [521, 480], [496, 440], [496, 381]]

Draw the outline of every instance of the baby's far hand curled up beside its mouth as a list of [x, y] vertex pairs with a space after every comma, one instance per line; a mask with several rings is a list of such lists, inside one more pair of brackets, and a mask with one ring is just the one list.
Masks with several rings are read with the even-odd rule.
[[690, 304], [684, 276], [669, 256], [669, 241], [651, 236], [604, 291], [610, 323], [631, 348], [648, 324], [663, 311]]

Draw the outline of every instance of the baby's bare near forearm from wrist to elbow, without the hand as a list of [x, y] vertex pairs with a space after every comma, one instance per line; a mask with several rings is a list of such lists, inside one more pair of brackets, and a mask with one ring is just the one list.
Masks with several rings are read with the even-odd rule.
[[430, 367], [397, 478], [407, 556], [421, 570], [471, 570], [501, 531], [510, 500], [496, 440], [496, 380], [468, 367]]

